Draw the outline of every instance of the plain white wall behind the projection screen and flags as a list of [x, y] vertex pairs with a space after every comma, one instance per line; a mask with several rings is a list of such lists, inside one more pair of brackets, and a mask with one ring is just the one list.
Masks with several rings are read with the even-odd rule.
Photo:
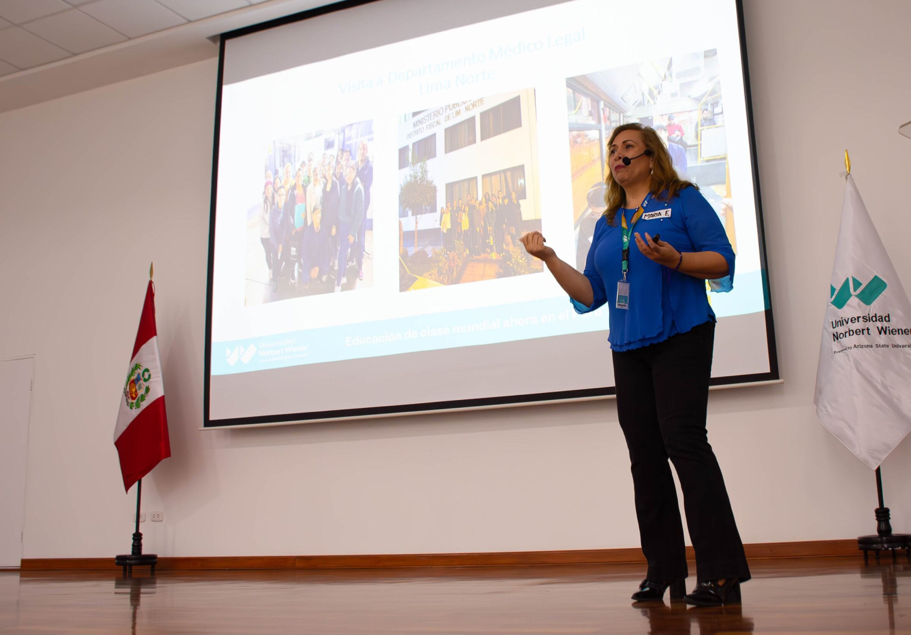
[[[844, 148], [896, 269], [911, 268], [904, 0], [748, 0], [785, 384], [711, 395], [746, 542], [875, 529], [873, 473], [814, 417]], [[845, 31], [844, 25], [850, 25]], [[129, 547], [111, 435], [156, 262], [173, 457], [146, 479], [165, 556], [638, 545], [613, 402], [200, 432], [215, 61], [0, 115], [0, 358], [36, 353], [25, 558]], [[911, 289], [911, 276], [904, 280]], [[542, 368], [541, 372], [547, 372]], [[883, 466], [911, 529], [911, 441]]]

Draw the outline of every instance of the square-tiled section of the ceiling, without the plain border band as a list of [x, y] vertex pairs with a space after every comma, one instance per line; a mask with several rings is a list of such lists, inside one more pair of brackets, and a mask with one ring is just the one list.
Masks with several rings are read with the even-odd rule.
[[0, 76], [264, 0], [0, 0]]

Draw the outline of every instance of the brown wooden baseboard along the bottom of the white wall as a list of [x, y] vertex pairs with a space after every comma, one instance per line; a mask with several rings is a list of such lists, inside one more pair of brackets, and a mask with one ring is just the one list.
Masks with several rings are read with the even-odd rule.
[[[857, 540], [765, 542], [744, 545], [750, 560], [859, 556]], [[692, 559], [692, 548], [687, 558]], [[527, 567], [535, 565], [636, 564], [645, 562], [639, 548], [575, 551], [505, 551], [493, 553], [391, 554], [364, 556], [225, 556], [159, 558], [160, 570], [333, 569], [422, 567]], [[23, 558], [23, 571], [117, 569], [110, 558]]]

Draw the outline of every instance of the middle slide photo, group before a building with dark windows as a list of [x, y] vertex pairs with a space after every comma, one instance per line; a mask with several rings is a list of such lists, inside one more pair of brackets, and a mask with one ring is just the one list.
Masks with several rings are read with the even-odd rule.
[[540, 230], [535, 91], [405, 114], [399, 124], [399, 287], [542, 271], [519, 237]]

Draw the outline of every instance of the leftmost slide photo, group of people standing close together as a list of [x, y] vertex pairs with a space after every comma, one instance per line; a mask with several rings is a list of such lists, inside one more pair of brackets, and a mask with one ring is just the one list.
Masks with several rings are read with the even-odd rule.
[[373, 121], [271, 141], [248, 210], [247, 306], [373, 286]]

